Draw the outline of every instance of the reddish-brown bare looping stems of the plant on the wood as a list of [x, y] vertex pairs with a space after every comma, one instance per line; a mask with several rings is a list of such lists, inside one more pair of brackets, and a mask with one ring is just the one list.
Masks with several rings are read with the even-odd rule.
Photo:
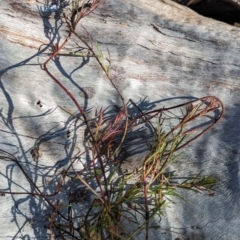
[[[117, 86], [114, 84], [113, 79], [111, 79], [111, 77], [109, 76], [108, 72], [106, 72], [105, 66], [103, 66], [103, 63], [99, 60], [97, 54], [95, 53], [93, 47], [91, 46], [91, 44], [89, 44], [87, 41], [85, 41], [75, 30], [76, 25], [79, 23], [79, 21], [89, 15], [92, 11], [94, 11], [95, 9], [97, 9], [99, 7], [100, 4], [100, 0], [93, 0], [91, 3], [86, 3], [83, 6], [78, 7], [77, 9], [75, 9], [72, 12], [72, 16], [70, 19], [68, 19], [66, 17], [66, 15], [64, 15], [64, 18], [66, 20], [66, 23], [68, 25], [69, 28], [69, 33], [68, 36], [66, 37], [66, 39], [64, 40], [64, 42], [58, 46], [58, 44], [55, 44], [55, 48], [52, 52], [52, 54], [50, 55], [50, 57], [47, 59], [47, 61], [41, 66], [42, 70], [44, 70], [48, 76], [71, 98], [71, 100], [74, 102], [74, 104], [76, 105], [77, 109], [79, 110], [79, 112], [81, 113], [81, 115], [84, 118], [84, 122], [86, 124], [87, 130], [90, 134], [91, 137], [91, 142], [93, 147], [91, 148], [92, 150], [92, 159], [91, 161], [81, 170], [78, 171], [76, 173], [76, 176], [80, 176], [80, 174], [82, 174], [84, 171], [88, 171], [89, 168], [92, 166], [94, 169], [94, 174], [95, 174], [95, 179], [96, 182], [100, 188], [100, 192], [101, 192], [101, 196], [100, 196], [100, 202], [103, 205], [103, 208], [105, 208], [106, 212], [109, 213], [109, 215], [111, 215], [111, 209], [110, 209], [110, 205], [111, 205], [111, 192], [109, 192], [108, 190], [108, 181], [106, 178], [106, 173], [105, 173], [105, 166], [103, 164], [103, 156], [106, 156], [110, 159], [111, 157], [114, 158], [115, 157], [115, 153], [118, 152], [118, 150], [121, 147], [121, 144], [123, 143], [126, 134], [128, 134], [130, 132], [130, 130], [132, 130], [133, 128], [139, 126], [140, 124], [145, 124], [145, 123], [149, 123], [151, 125], [151, 127], [153, 129], [155, 129], [154, 124], [152, 123], [152, 119], [155, 118], [156, 116], [159, 116], [159, 118], [162, 117], [162, 114], [164, 113], [170, 113], [171, 111], [178, 109], [178, 108], [182, 108], [185, 107], [186, 109], [186, 113], [179, 119], [179, 123], [176, 124], [174, 127], [172, 127], [170, 129], [170, 131], [168, 133], [165, 134], [164, 139], [166, 140], [167, 138], [171, 138], [171, 136], [174, 136], [174, 133], [176, 131], [180, 132], [179, 137], [180, 138], [184, 138], [184, 136], [186, 135], [191, 135], [193, 133], [195, 133], [196, 131], [199, 131], [199, 133], [197, 133], [196, 135], [193, 134], [192, 138], [190, 138], [190, 140], [187, 141], [183, 141], [179, 146], [177, 146], [176, 150], [179, 150], [183, 147], [185, 147], [187, 144], [191, 143], [192, 141], [194, 141], [196, 138], [200, 137], [201, 135], [203, 135], [204, 133], [206, 133], [206, 131], [208, 131], [210, 128], [212, 128], [215, 124], [217, 124], [219, 122], [219, 120], [222, 118], [223, 113], [224, 113], [224, 107], [223, 107], [223, 103], [221, 102], [220, 99], [214, 97], [214, 96], [206, 96], [206, 97], [202, 97], [193, 101], [189, 101], [183, 104], [178, 104], [176, 106], [172, 106], [172, 107], [168, 107], [168, 108], [160, 108], [157, 110], [152, 110], [152, 111], [148, 111], [148, 112], [142, 112], [141, 109], [138, 108], [138, 106], [136, 106], [136, 104], [134, 102], [133, 105], [139, 110], [140, 114], [129, 120], [129, 116], [128, 116], [128, 109], [127, 106], [125, 104], [124, 98], [121, 95], [120, 91], [118, 90]], [[86, 31], [86, 30], [85, 30]], [[87, 32], [87, 31], [86, 31]], [[116, 89], [117, 93], [119, 94], [119, 96], [121, 97], [122, 100], [122, 104], [123, 104], [123, 111], [121, 111], [120, 113], [118, 113], [115, 118], [113, 118], [112, 120], [108, 121], [107, 124], [103, 124], [104, 122], [104, 111], [101, 109], [99, 114], [98, 114], [98, 120], [95, 120], [95, 127], [97, 129], [97, 133], [98, 134], [94, 134], [92, 131], [92, 128], [89, 124], [89, 119], [87, 118], [82, 106], [78, 103], [78, 101], [76, 100], [75, 96], [55, 77], [52, 75], [52, 73], [49, 71], [48, 69], [48, 63], [52, 60], [54, 60], [58, 54], [60, 53], [60, 51], [62, 49], [64, 49], [64, 47], [66, 46], [66, 44], [68, 43], [69, 39], [71, 38], [72, 34], [76, 35], [78, 37], [78, 39], [84, 43], [86, 45], [86, 47], [88, 48], [88, 50], [93, 54], [93, 56], [96, 57], [96, 60], [98, 61], [98, 63], [100, 64], [100, 66], [102, 67], [102, 69], [105, 71], [106, 73], [106, 77], [110, 80], [110, 82], [112, 83], [113, 87]], [[87, 33], [88, 34], [88, 33]], [[88, 34], [89, 35], [89, 34]], [[89, 35], [90, 38], [90, 35]], [[194, 107], [195, 104], [195, 107]], [[203, 116], [207, 116], [209, 113], [216, 113], [216, 111], [218, 111], [218, 114], [215, 114], [215, 118], [213, 120], [213, 122], [206, 127], [205, 129], [201, 129], [199, 127], [196, 128], [191, 128], [188, 129], [186, 131], [183, 131], [183, 127], [185, 127], [187, 124], [190, 123], [195, 123], [196, 120], [200, 119]], [[140, 121], [139, 121], [140, 120]], [[111, 151], [113, 146], [114, 146], [114, 142], [115, 140], [118, 138], [119, 136], [121, 137], [121, 143], [115, 147], [115, 150]], [[159, 142], [156, 142], [156, 144], [159, 144]], [[157, 146], [154, 146], [152, 150], [149, 151], [149, 153], [147, 154], [146, 159], [148, 159], [148, 157], [151, 157], [152, 154], [154, 153], [154, 151], [156, 150]], [[73, 227], [73, 219], [72, 219], [72, 211], [71, 211], [71, 207], [68, 208], [68, 216], [65, 217], [61, 212], [60, 212], [60, 207], [57, 204], [56, 201], [51, 201], [49, 200], [49, 197], [53, 197], [55, 196], [55, 200], [57, 198], [57, 194], [59, 192], [61, 192], [63, 186], [66, 184], [66, 177], [70, 171], [70, 168], [73, 167], [74, 162], [79, 159], [79, 157], [82, 154], [85, 154], [85, 152], [81, 153], [81, 154], [77, 154], [75, 156], [75, 158], [72, 159], [70, 165], [68, 166], [68, 168], [62, 173], [62, 181], [59, 183], [59, 186], [57, 187], [56, 191], [53, 194], [43, 194], [41, 192], [41, 190], [39, 189], [39, 187], [34, 183], [34, 181], [32, 180], [32, 178], [26, 173], [25, 169], [22, 167], [22, 165], [20, 164], [20, 162], [16, 159], [15, 156], [0, 150], [3, 155], [0, 156], [0, 159], [2, 160], [6, 160], [6, 161], [13, 161], [15, 162], [20, 170], [22, 171], [22, 173], [24, 174], [24, 176], [26, 177], [26, 179], [29, 181], [29, 183], [33, 186], [34, 188], [34, 192], [7, 192], [7, 191], [0, 191], [0, 193], [4, 193], [4, 194], [29, 194], [32, 196], [38, 196], [43, 198], [48, 204], [49, 206], [51, 206], [53, 208], [53, 215], [52, 218], [50, 220], [50, 228], [54, 229], [54, 228], [59, 228], [60, 231], [63, 231], [64, 233], [74, 237], [74, 231], [76, 230]], [[158, 166], [158, 161], [157, 159], [159, 159], [160, 157], [165, 157], [164, 161], [161, 163], [161, 166]], [[145, 238], [148, 239], [148, 229], [149, 229], [149, 219], [150, 219], [150, 211], [149, 211], [149, 200], [148, 200], [148, 182], [147, 182], [147, 178], [151, 177], [151, 179], [154, 178], [155, 174], [157, 171], [162, 171], [162, 169], [164, 168], [164, 166], [167, 164], [167, 162], [169, 161], [171, 157], [171, 151], [168, 151], [167, 153], [159, 153], [158, 155], [156, 155], [152, 161], [152, 166], [149, 166], [147, 162], [144, 162], [142, 165], [142, 176], [141, 176], [141, 180], [143, 183], [143, 196], [144, 196], [144, 201], [145, 201], [145, 224], [146, 224], [146, 235]], [[98, 171], [97, 171], [97, 166], [98, 163], [100, 164], [100, 168], [101, 168], [101, 175], [104, 178], [104, 186], [102, 185], [102, 181], [101, 181], [101, 176], [99, 176]], [[80, 177], [79, 177], [80, 178]], [[121, 203], [122, 204], [122, 203]], [[158, 203], [159, 205], [161, 203]], [[71, 200], [69, 201], [69, 206], [71, 205]], [[119, 209], [119, 208], [118, 208]], [[86, 224], [86, 228], [87, 227], [87, 218], [90, 216], [90, 212], [91, 212], [92, 208], [90, 208], [85, 216], [85, 224]], [[55, 216], [61, 216], [66, 222], [68, 222], [67, 226], [65, 226], [64, 228], [59, 227], [55, 222]], [[113, 221], [116, 224], [114, 227], [116, 227], [116, 232], [118, 229], [118, 221], [119, 218], [121, 217], [125, 217], [122, 215], [121, 212], [117, 212], [115, 217], [113, 217]], [[118, 220], [116, 220], [118, 219]], [[117, 222], [116, 222], [117, 221]], [[69, 229], [66, 230], [66, 229]], [[109, 230], [109, 233], [111, 234], [111, 230]], [[116, 234], [116, 233], [115, 233]], [[112, 233], [112, 236], [114, 236], [114, 233]]]

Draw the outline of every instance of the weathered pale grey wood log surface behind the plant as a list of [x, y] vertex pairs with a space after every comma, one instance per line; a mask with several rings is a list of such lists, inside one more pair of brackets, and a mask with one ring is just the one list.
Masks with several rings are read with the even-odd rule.
[[[1, 3], [0, 146], [26, 162], [39, 183], [83, 147], [84, 127], [60, 108], [75, 106], [39, 66], [47, 57], [39, 47], [46, 53], [66, 36], [55, 9], [35, 0]], [[238, 239], [240, 29], [168, 0], [108, 1], [82, 25], [105, 55], [109, 50], [111, 74], [125, 99], [145, 99], [143, 106], [154, 108], [215, 95], [226, 106], [220, 124], [191, 144], [173, 169], [215, 174], [215, 196], [183, 193], [189, 203], [176, 200], [150, 239]], [[61, 56], [50, 69], [85, 109], [93, 109], [89, 115], [120, 104], [94, 59]], [[2, 190], [30, 189], [14, 164], [1, 162], [0, 173]], [[1, 196], [0, 238], [46, 239], [43, 205], [29, 196]]]

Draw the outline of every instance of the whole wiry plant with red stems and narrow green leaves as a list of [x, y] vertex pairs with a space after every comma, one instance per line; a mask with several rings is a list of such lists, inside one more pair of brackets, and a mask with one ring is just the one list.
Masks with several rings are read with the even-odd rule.
[[[104, 57], [97, 42], [83, 28], [88, 40], [81, 36], [76, 26], [82, 18], [102, 6], [104, 1], [71, 1], [70, 8], [63, 12], [63, 20], [68, 27], [68, 35], [61, 45], [55, 48], [49, 58], [41, 64], [46, 74], [62, 88], [75, 103], [86, 126], [88, 146], [85, 152], [78, 153], [57, 178], [56, 189], [51, 194], [42, 191], [31, 178], [22, 164], [13, 155], [0, 150], [0, 158], [13, 161], [34, 188], [33, 192], [7, 192], [2, 194], [29, 194], [43, 199], [51, 209], [47, 227], [51, 239], [135, 239], [138, 233], [144, 233], [149, 239], [149, 229], [161, 225], [152, 224], [152, 219], [161, 219], [163, 209], [172, 197], [180, 197], [178, 188], [196, 192], [212, 191], [216, 184], [213, 176], [197, 173], [185, 181], [176, 181], [175, 175], [168, 172], [169, 166], [177, 161], [179, 149], [186, 147], [203, 135], [221, 119], [223, 104], [214, 96], [206, 96], [168, 108], [143, 111], [136, 103], [125, 102], [121, 92], [114, 84], [109, 71], [110, 61]], [[122, 101], [122, 107], [115, 116], [109, 118], [104, 109], [96, 112], [94, 119], [88, 119], [84, 109], [75, 96], [51, 73], [50, 61], [58, 55], [85, 56], [86, 53], [70, 53], [66, 45], [75, 35], [88, 54], [94, 57], [105, 77], [110, 81]], [[129, 106], [136, 110], [129, 114]], [[70, 109], [64, 109], [73, 118], [77, 118]], [[206, 121], [207, 119], [207, 121]], [[148, 150], [136, 159], [134, 168], [125, 171], [122, 166], [128, 164], [123, 149], [129, 136], [137, 129], [146, 128], [152, 132], [148, 139]], [[90, 154], [90, 159], [81, 170], [75, 170], [81, 156]], [[130, 163], [131, 164], [131, 163]], [[91, 184], [90, 184], [91, 183]], [[93, 184], [94, 183], [94, 184]], [[73, 185], [77, 185], [74, 188]], [[62, 198], [62, 192], [68, 194]], [[66, 197], [67, 196], [67, 197]], [[80, 206], [84, 206], [84, 209]], [[131, 228], [128, 228], [128, 225]]]

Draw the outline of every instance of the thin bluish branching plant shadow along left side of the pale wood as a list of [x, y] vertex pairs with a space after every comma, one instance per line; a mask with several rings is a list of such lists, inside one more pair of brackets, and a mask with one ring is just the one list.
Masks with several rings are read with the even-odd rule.
[[[26, 58], [24, 61], [21, 61], [19, 63], [16, 63], [10, 67], [6, 67], [5, 69], [1, 70], [0, 71], [1, 78], [5, 73], [15, 68], [33, 65], [29, 63], [32, 59], [41, 56], [42, 54], [45, 53], [46, 50], [49, 50], [49, 49], [53, 50], [54, 44], [60, 42], [60, 35], [58, 31], [63, 24], [60, 18], [60, 14], [62, 13], [63, 8], [66, 7], [67, 5], [68, 5], [67, 1], [64, 1], [64, 0], [53, 0], [53, 1], [46, 0], [43, 6], [39, 6], [39, 14], [43, 20], [44, 32], [45, 32], [45, 36], [49, 40], [49, 44], [46, 46], [42, 46], [36, 54]], [[49, 21], [49, 18], [53, 14], [54, 14], [54, 25], [52, 26]], [[88, 60], [84, 59], [83, 63], [80, 64], [80, 66], [77, 69], [80, 69], [87, 62]], [[60, 72], [62, 72], [62, 74], [64, 75], [59, 59], [57, 59], [55, 63], [56, 63], [56, 66], [59, 68]], [[40, 67], [39, 67], [39, 71], [41, 71]], [[65, 76], [67, 76], [67, 73], [65, 73]], [[1, 115], [0, 115], [1, 121], [7, 128], [6, 132], [13, 134], [13, 136], [17, 140], [17, 145], [18, 145], [17, 158], [18, 158], [19, 164], [24, 168], [26, 174], [36, 184], [37, 182], [39, 183], [39, 180], [40, 180], [41, 185], [44, 186], [45, 185], [44, 180], [53, 178], [53, 181], [48, 185], [48, 187], [46, 187], [43, 190], [43, 193], [50, 194], [55, 190], [56, 182], [59, 180], [57, 178], [54, 178], [55, 177], [54, 171], [56, 172], [63, 166], [67, 165], [70, 159], [72, 158], [73, 150], [74, 150], [74, 147], [76, 144], [76, 138], [77, 138], [76, 129], [79, 127], [78, 121], [77, 119], [73, 119], [70, 117], [69, 120], [65, 123], [65, 125], [62, 128], [59, 128], [58, 126], [56, 126], [56, 129], [51, 129], [45, 134], [40, 136], [39, 136], [39, 133], [41, 132], [41, 129], [36, 129], [36, 136], [39, 136], [39, 137], [36, 139], [34, 146], [30, 147], [29, 150], [26, 150], [25, 146], [23, 146], [21, 142], [21, 138], [20, 138], [21, 134], [18, 133], [18, 129], [16, 129], [13, 124], [13, 120], [14, 120], [13, 113], [15, 111], [15, 107], [11, 98], [11, 93], [6, 90], [2, 79], [0, 81], [0, 89], [3, 93], [3, 96], [6, 99], [6, 102], [8, 103], [8, 108], [6, 108], [8, 109], [7, 110], [8, 112], [6, 116], [1, 111]], [[39, 102], [39, 107], [42, 107], [41, 102]], [[85, 107], [87, 107], [87, 102], [85, 103]], [[20, 118], [33, 119], [33, 118], [43, 117], [51, 113], [52, 113], [51, 111], [47, 110], [46, 112], [41, 113], [39, 115], [26, 116], [26, 117], [23, 116]], [[68, 130], [68, 126], [70, 124], [74, 125], [74, 128], [71, 131]], [[72, 136], [71, 136], [71, 139], [68, 139], [69, 136], [66, 136], [66, 135], [69, 135], [70, 133]], [[26, 136], [26, 137], [30, 137], [34, 139], [33, 136]], [[65, 157], [60, 159], [60, 162], [57, 161], [54, 166], [48, 166], [48, 167], [41, 166], [41, 163], [38, 162], [39, 156], [38, 157], [36, 156], [37, 152], [34, 151], [34, 149], [38, 149], [41, 146], [41, 144], [43, 144], [44, 142], [54, 142], [56, 138], [66, 139], [65, 143], [62, 144], [62, 148], [65, 151]], [[32, 156], [32, 159], [30, 155]], [[34, 187], [31, 184], [29, 184], [29, 189], [22, 189], [22, 187], [18, 184], [18, 182], [13, 180], [15, 171], [17, 171], [18, 173], [21, 172], [19, 167], [13, 163], [7, 166], [5, 174], [1, 173], [1, 176], [8, 181], [8, 187], [4, 189], [4, 191], [11, 192], [12, 189], [17, 187], [21, 192], [28, 191], [30, 193], [36, 193], [36, 189], [34, 189]], [[11, 196], [14, 202], [14, 206], [12, 206], [12, 209], [11, 209], [12, 211], [11, 213], [13, 215], [12, 221], [16, 223], [16, 226], [19, 229], [18, 232], [13, 237], [13, 239], [18, 238], [19, 234], [22, 235], [22, 239], [30, 239], [30, 236], [28, 234], [24, 234], [24, 231], [22, 231], [26, 224], [32, 225], [32, 228], [36, 237], [46, 239], [47, 237], [46, 225], [47, 225], [48, 219], [46, 214], [45, 200], [42, 198], [37, 199], [29, 194], [19, 195], [19, 196], [18, 194], [12, 194]], [[22, 208], [23, 205], [29, 205], [30, 212], [26, 213], [26, 208], [24, 207]], [[33, 218], [29, 219], [29, 214], [32, 215]], [[18, 220], [18, 217], [25, 219], [23, 223]]]

